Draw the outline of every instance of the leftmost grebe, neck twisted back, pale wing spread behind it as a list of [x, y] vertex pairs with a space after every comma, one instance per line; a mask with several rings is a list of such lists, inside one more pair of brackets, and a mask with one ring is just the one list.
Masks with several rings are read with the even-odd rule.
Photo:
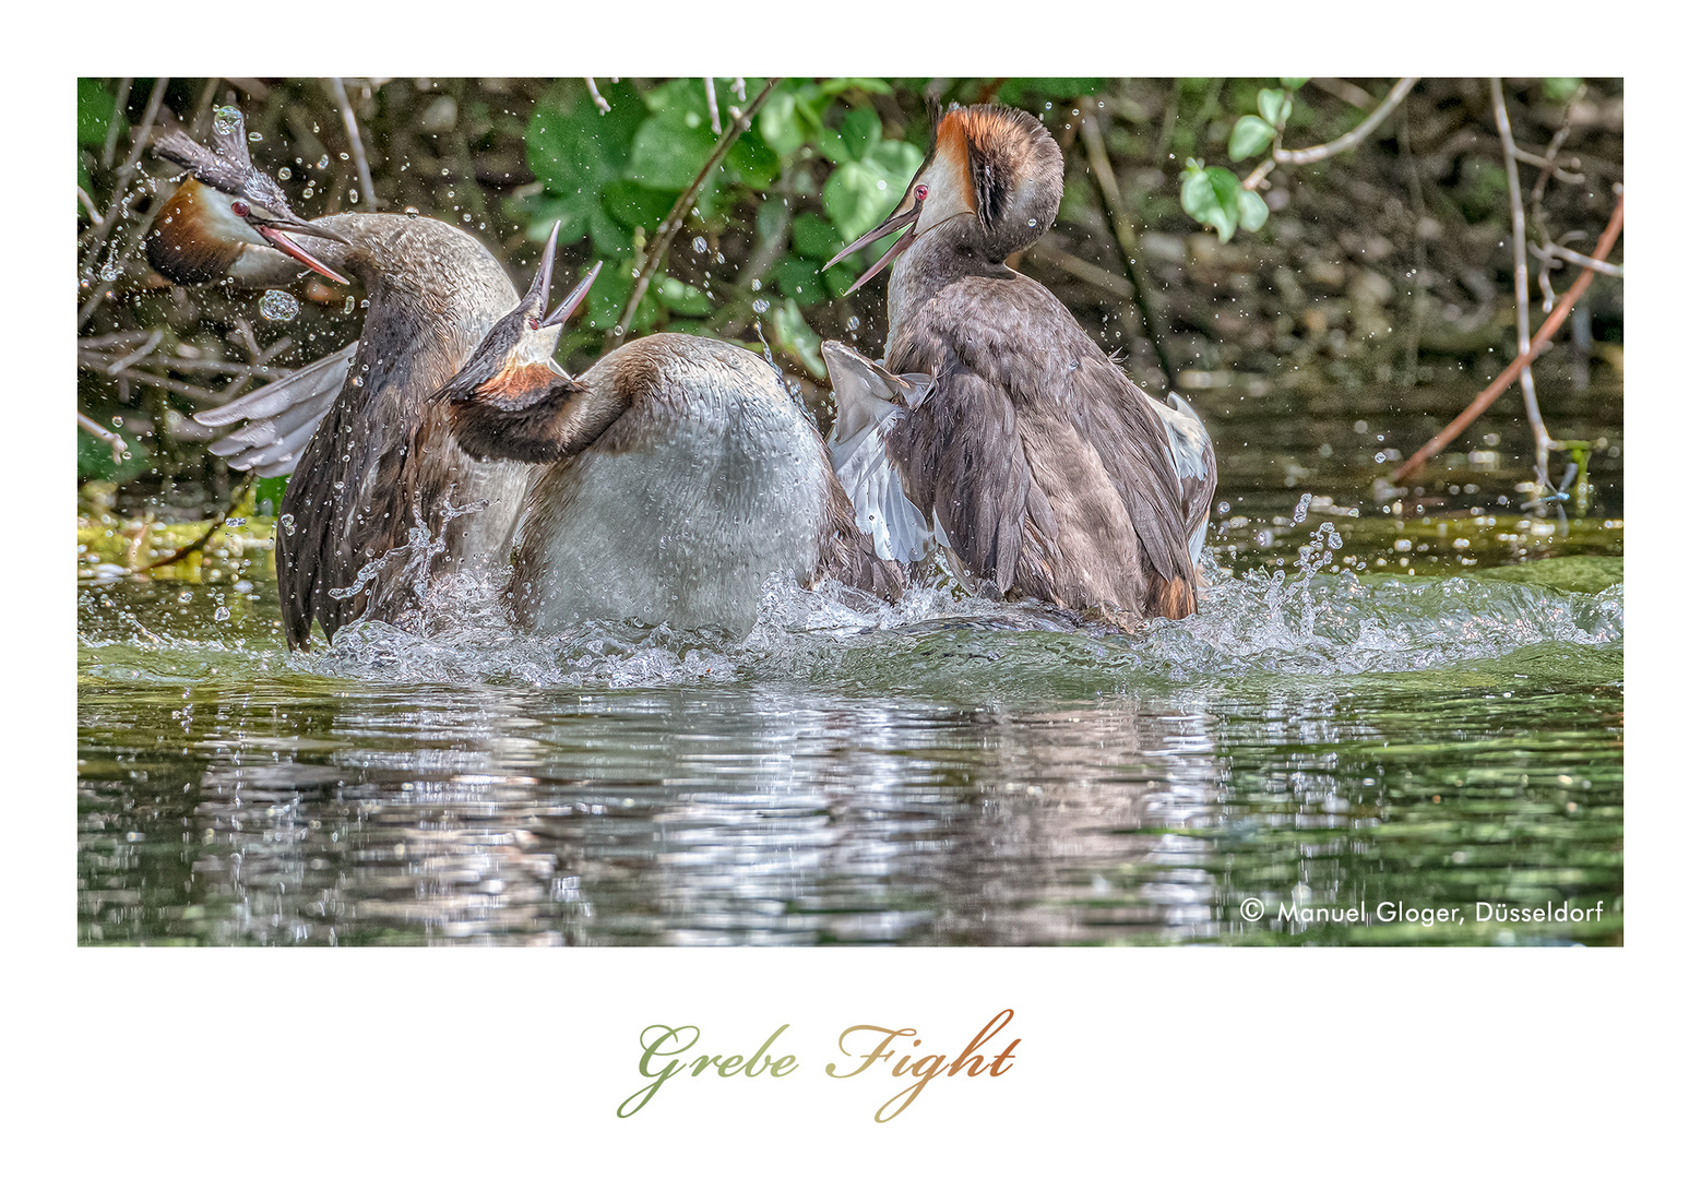
[[[476, 238], [432, 218], [303, 221], [253, 167], [240, 112], [221, 111], [213, 134], [214, 148], [180, 133], [155, 143], [189, 170], [148, 240], [155, 269], [243, 286], [347, 272], [369, 308], [356, 344], [197, 420], [247, 419], [214, 453], [262, 475], [294, 471], [276, 541], [289, 645], [308, 641], [313, 619], [327, 636], [362, 616], [396, 621], [417, 609], [422, 584], [505, 553], [512, 538], [532, 470], [468, 454], [452, 430], [434, 429], [444, 410], [430, 395], [514, 306], [514, 282]], [[424, 577], [395, 560], [422, 550]]]

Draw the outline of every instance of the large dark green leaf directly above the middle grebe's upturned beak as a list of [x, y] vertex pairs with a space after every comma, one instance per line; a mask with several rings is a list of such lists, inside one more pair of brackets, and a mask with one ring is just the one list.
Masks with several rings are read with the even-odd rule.
[[597, 219], [607, 223], [602, 185], [619, 179], [645, 117], [634, 87], [609, 83], [604, 97], [609, 114], [597, 111], [582, 78], [563, 78], [539, 99], [526, 131], [526, 162], [546, 194], [538, 208], [551, 223], [560, 218], [563, 243], [590, 233]]

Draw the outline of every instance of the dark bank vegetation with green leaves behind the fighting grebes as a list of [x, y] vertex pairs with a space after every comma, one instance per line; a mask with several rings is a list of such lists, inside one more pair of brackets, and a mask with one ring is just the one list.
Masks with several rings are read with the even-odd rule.
[[[417, 209], [485, 242], [524, 286], [541, 242], [561, 221], [568, 274], [602, 259], [589, 311], [563, 337], [570, 371], [606, 345], [650, 235], [686, 191], [762, 78], [716, 78], [711, 116], [703, 78], [344, 78], [381, 211]], [[1294, 92], [1284, 143], [1323, 143], [1357, 126], [1388, 78], [1311, 78]], [[1221, 242], [1180, 206], [1189, 158], [1233, 167], [1230, 133], [1257, 109], [1271, 78], [941, 78], [784, 80], [754, 126], [697, 194], [631, 332], [713, 333], [767, 345], [825, 422], [830, 400], [822, 339], [871, 356], [885, 347], [885, 281], [844, 298], [862, 265], [820, 274], [842, 243], [896, 204], [927, 143], [925, 97], [997, 99], [1033, 111], [1068, 165], [1056, 226], [1019, 260], [1048, 284], [1131, 376], [1153, 393], [1165, 378], [1129, 301], [1129, 282], [1080, 143], [1082, 114], [1102, 128], [1121, 197], [1138, 233], [1136, 262], [1152, 291], [1158, 335], [1184, 393], [1216, 432], [1262, 400], [1291, 437], [1291, 454], [1223, 453], [1225, 487], [1274, 480], [1294, 487], [1317, 468], [1344, 481], [1397, 458], [1380, 420], [1400, 427], [1407, 453], [1465, 405], [1516, 352], [1507, 177], [1488, 85], [1425, 78], [1361, 148], [1306, 167], [1276, 167], [1264, 192], [1271, 216]], [[1541, 216], [1555, 240], [1592, 248], [1623, 180], [1619, 80], [1505, 82], [1514, 134], [1541, 155], [1568, 128], [1563, 177], [1546, 184]], [[260, 311], [260, 293], [223, 284], [177, 288], [139, 250], [174, 168], [139, 150], [167, 126], [204, 138], [216, 105], [247, 116], [255, 162], [277, 175], [296, 213], [313, 218], [371, 208], [333, 85], [281, 78], [83, 78], [78, 83], [78, 407], [114, 424], [131, 456], [78, 434], [78, 476], [105, 507], [160, 521], [218, 512], [233, 485], [208, 454], [191, 413], [252, 390], [356, 339], [359, 298], [318, 281], [291, 288], [294, 318]], [[139, 150], [139, 155], [138, 155]], [[131, 165], [131, 160], [134, 163]], [[131, 167], [126, 167], [131, 165]], [[1526, 174], [1529, 189], [1534, 170]], [[1534, 230], [1533, 230], [1534, 233]], [[1570, 233], [1572, 236], [1563, 236]], [[1621, 253], [1614, 252], [1614, 259]], [[1575, 271], [1553, 276], [1556, 289]], [[565, 289], [558, 282], [558, 289]], [[1597, 281], [1575, 339], [1536, 366], [1556, 437], [1599, 437], [1594, 475], [1614, 485], [1623, 362], [1623, 294]], [[1533, 322], [1541, 291], [1533, 289]], [[1551, 400], [1550, 400], [1551, 398]], [[1522, 436], [1516, 390], [1483, 430]], [[1378, 417], [1380, 415], [1380, 417]], [[1363, 447], [1306, 441], [1311, 419], [1357, 422]], [[1395, 425], [1388, 427], [1390, 430]], [[1487, 437], [1495, 439], [1493, 432]], [[1390, 437], [1393, 437], [1390, 434]], [[1415, 441], [1412, 441], [1415, 439]], [[1465, 439], [1482, 447], [1480, 437]], [[1611, 444], [1611, 446], [1609, 446]], [[1294, 454], [1310, 459], [1294, 459]], [[1317, 459], [1322, 453], [1323, 459]], [[1334, 456], [1334, 459], [1330, 459]], [[1305, 466], [1310, 461], [1311, 466]], [[1381, 468], [1386, 470], [1386, 468]], [[1296, 475], [1298, 471], [1298, 475]], [[1475, 487], [1475, 485], [1473, 485]], [[274, 488], [276, 493], [276, 488]]]

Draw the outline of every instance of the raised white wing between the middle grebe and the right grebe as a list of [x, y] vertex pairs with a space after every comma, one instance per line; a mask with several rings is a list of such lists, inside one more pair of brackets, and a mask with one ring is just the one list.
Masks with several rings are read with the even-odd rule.
[[920, 561], [932, 541], [932, 524], [903, 492], [903, 473], [886, 451], [886, 439], [907, 410], [932, 391], [925, 373], [893, 376], [837, 340], [822, 345], [839, 413], [827, 439], [833, 471], [850, 498], [856, 527], [873, 538], [885, 561]]

